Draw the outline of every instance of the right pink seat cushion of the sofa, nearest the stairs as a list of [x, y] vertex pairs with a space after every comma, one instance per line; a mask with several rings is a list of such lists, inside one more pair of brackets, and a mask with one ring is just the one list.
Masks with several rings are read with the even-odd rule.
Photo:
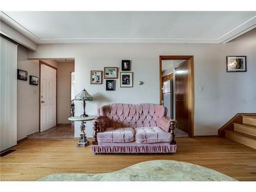
[[163, 131], [158, 126], [137, 127], [134, 130], [137, 143], [161, 143], [172, 141], [172, 134]]

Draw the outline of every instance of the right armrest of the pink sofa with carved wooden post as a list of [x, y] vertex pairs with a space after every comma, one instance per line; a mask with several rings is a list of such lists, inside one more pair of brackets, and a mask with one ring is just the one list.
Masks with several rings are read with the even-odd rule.
[[163, 131], [169, 132], [172, 134], [173, 139], [170, 144], [176, 144], [175, 140], [175, 128], [176, 128], [177, 121], [175, 119], [170, 119], [166, 117], [160, 117], [157, 121], [157, 126], [159, 126]]

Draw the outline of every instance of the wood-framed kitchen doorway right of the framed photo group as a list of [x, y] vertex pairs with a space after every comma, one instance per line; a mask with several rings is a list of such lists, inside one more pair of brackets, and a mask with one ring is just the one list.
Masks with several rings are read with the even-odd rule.
[[[172, 74], [173, 91], [173, 114], [169, 117], [178, 121], [177, 131], [194, 137], [194, 61], [193, 56], [159, 56], [159, 74], [160, 74], [160, 101], [161, 105], [165, 105], [165, 77]], [[169, 68], [166, 67], [169, 65]]]

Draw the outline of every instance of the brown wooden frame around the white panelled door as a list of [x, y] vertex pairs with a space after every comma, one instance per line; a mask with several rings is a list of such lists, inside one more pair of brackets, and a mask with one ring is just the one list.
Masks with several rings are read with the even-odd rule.
[[39, 133], [41, 133], [41, 65], [46, 65], [56, 70], [56, 126], [58, 122], [57, 106], [58, 106], [58, 69], [49, 65], [48, 63], [39, 60]]

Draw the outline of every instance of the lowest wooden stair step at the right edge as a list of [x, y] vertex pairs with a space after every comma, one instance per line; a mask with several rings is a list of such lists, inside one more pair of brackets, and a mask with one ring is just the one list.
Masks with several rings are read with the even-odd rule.
[[237, 131], [225, 131], [226, 138], [256, 149], [256, 137]]

